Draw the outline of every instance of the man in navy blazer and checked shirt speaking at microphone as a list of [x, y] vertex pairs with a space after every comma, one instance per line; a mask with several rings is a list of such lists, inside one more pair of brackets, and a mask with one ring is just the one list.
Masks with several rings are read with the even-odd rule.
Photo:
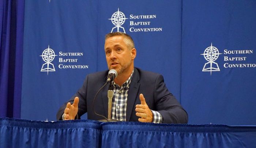
[[[134, 67], [136, 49], [131, 36], [114, 32], [105, 36], [105, 54], [109, 70], [116, 70], [113, 84], [112, 119], [154, 123], [187, 123], [187, 112], [165, 86], [163, 76]], [[87, 75], [83, 86], [60, 107], [57, 120], [100, 120], [108, 115], [108, 71]], [[94, 101], [94, 102], [93, 102]], [[97, 113], [95, 114], [93, 111]]]

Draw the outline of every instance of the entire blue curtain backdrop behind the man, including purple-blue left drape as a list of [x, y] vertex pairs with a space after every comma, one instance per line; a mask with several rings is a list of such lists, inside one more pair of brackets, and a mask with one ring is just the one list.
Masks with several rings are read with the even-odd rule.
[[[85, 76], [107, 69], [104, 35], [120, 11], [135, 66], [163, 74], [190, 124], [255, 125], [255, 7], [254, 0], [25, 1], [22, 50], [24, 1], [1, 1], [0, 115], [56, 120]], [[55, 54], [54, 71], [43, 70], [44, 51]], [[84, 68], [69, 68], [77, 65]]]

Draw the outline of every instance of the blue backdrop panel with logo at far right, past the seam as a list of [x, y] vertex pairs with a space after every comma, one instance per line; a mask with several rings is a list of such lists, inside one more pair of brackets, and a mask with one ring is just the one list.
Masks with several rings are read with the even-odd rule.
[[191, 124], [256, 124], [256, 2], [183, 0], [181, 103]]

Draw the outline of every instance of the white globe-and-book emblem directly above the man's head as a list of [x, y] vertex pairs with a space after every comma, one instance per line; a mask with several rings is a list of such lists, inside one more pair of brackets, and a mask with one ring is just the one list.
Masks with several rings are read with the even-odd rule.
[[[125, 20], [127, 18], [125, 18], [125, 15], [123, 12], [119, 11], [119, 8], [117, 9], [117, 12], [113, 13], [111, 19], [112, 23], [114, 24], [114, 26], [116, 27], [113, 27], [112, 30], [111, 30], [111, 33], [114, 31], [114, 29], [117, 28], [117, 32], [123, 32], [125, 33], [125, 30], [124, 30], [124, 27], [122, 27], [122, 25], [124, 24]], [[120, 28], [122, 29], [120, 31]], [[114, 31], [116, 32], [116, 31]]]

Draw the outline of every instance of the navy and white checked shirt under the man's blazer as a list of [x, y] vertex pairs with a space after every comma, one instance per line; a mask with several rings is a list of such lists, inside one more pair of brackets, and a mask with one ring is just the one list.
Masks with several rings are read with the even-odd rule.
[[[133, 74], [133, 71], [132, 71]], [[131, 76], [123, 83], [120, 87], [114, 81], [112, 84], [114, 86], [114, 96], [112, 100], [112, 119], [116, 119], [119, 121], [126, 121], [126, 108], [127, 108], [127, 98], [129, 86], [132, 80]], [[153, 123], [162, 123], [163, 117], [162, 115], [154, 110], [151, 110], [153, 113]]]

